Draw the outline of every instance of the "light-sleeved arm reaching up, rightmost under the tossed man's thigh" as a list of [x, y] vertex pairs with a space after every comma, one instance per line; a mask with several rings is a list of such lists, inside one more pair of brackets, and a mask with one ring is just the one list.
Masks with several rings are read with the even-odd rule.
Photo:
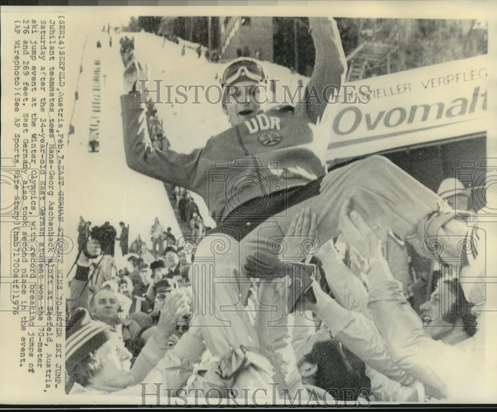
[[467, 382], [458, 380], [458, 373], [464, 370], [470, 376], [467, 371], [471, 368], [467, 368], [464, 352], [433, 340], [423, 329], [423, 322], [407, 302], [401, 283], [394, 278], [383, 257], [381, 241], [364, 219], [355, 211], [350, 212], [350, 217], [341, 215], [340, 219], [340, 226], [349, 239], [363, 238], [362, 249], [371, 262], [368, 309], [393, 361], [418, 379], [430, 396], [437, 399], [455, 396], [462, 388], [460, 383]]

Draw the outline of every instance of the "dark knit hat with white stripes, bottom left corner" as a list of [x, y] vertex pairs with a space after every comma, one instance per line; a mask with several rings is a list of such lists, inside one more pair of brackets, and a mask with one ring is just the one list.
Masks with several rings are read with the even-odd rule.
[[78, 308], [66, 327], [66, 371], [73, 369], [107, 340], [111, 327], [91, 318], [86, 309]]

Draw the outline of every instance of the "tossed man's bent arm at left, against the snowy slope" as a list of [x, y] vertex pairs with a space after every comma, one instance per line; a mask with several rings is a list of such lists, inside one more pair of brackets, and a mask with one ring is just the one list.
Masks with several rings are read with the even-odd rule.
[[174, 185], [191, 188], [202, 149], [190, 154], [153, 148], [146, 112], [138, 91], [121, 96], [124, 151], [127, 165], [139, 173]]

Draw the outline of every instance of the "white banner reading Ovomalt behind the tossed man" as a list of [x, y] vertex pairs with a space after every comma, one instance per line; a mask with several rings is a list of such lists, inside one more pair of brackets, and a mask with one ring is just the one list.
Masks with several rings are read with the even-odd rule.
[[485, 131], [487, 67], [484, 55], [345, 84], [326, 160]]

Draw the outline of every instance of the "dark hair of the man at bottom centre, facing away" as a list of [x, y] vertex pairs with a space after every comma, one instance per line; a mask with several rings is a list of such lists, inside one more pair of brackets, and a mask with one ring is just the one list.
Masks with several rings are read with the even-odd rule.
[[318, 366], [315, 385], [335, 399], [356, 401], [359, 395], [369, 394], [371, 382], [364, 362], [336, 340], [316, 342], [304, 359]]

